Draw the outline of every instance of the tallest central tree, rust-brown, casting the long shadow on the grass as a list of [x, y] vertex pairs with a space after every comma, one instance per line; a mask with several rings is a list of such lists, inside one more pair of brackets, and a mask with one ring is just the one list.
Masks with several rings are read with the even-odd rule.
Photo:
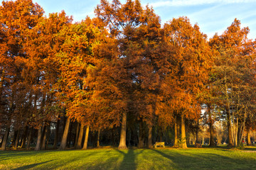
[[159, 86], [159, 75], [156, 74], [159, 55], [154, 50], [160, 37], [160, 20], [152, 8], [142, 8], [138, 0], [128, 0], [126, 4], [119, 1], [110, 4], [102, 0], [95, 13], [107, 23], [112, 37], [117, 40], [119, 54], [112, 59], [114, 72], [111, 78], [117, 82], [115, 103], [119, 105], [117, 116], [122, 118], [119, 149], [125, 149], [127, 116], [146, 122], [149, 129], [153, 123], [156, 102], [151, 99]]

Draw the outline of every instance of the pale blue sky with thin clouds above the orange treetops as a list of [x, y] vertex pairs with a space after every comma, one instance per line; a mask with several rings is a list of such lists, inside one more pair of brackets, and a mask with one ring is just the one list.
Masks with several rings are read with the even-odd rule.
[[[86, 16], [94, 17], [94, 9], [100, 0], [33, 0], [43, 7], [45, 14], [60, 12], [82, 21]], [[126, 0], [121, 0], [124, 4]], [[250, 28], [249, 38], [256, 38], [256, 0], [141, 0], [141, 4], [153, 6], [164, 24], [172, 18], [188, 16], [191, 23], [198, 23], [203, 33], [211, 38], [222, 34], [235, 18], [242, 27]]]

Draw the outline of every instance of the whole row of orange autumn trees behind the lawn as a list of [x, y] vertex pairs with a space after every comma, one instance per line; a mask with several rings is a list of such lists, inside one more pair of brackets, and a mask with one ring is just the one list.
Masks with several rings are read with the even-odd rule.
[[1, 149], [10, 132], [14, 149], [33, 138], [45, 149], [50, 135], [54, 148], [74, 141], [86, 149], [89, 137], [99, 145], [100, 132], [125, 149], [134, 138], [152, 147], [166, 130], [186, 148], [199, 120], [211, 146], [215, 121], [230, 146], [255, 129], [255, 41], [237, 19], [207, 40], [186, 17], [161, 27], [139, 0], [101, 0], [96, 17], [78, 23], [64, 11], [43, 13], [32, 0], [0, 7]]

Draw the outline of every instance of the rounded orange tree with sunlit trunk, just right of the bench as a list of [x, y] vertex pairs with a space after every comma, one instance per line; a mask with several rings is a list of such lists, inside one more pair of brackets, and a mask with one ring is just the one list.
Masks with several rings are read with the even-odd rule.
[[[164, 25], [166, 77], [161, 84], [162, 108], [170, 120], [181, 117], [181, 147], [186, 148], [185, 118], [198, 119], [201, 113], [200, 94], [205, 89], [210, 69], [210, 49], [206, 35], [188, 18], [174, 18]], [[167, 51], [167, 50], [166, 50]], [[168, 111], [168, 112], [166, 112]]]

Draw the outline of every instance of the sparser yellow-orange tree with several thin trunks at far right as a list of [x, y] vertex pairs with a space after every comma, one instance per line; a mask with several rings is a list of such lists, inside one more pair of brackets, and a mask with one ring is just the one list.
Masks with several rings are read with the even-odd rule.
[[213, 86], [227, 121], [230, 147], [242, 143], [246, 118], [255, 109], [255, 42], [247, 39], [248, 33], [249, 28], [240, 28], [235, 19], [223, 35], [210, 39], [216, 50]]

